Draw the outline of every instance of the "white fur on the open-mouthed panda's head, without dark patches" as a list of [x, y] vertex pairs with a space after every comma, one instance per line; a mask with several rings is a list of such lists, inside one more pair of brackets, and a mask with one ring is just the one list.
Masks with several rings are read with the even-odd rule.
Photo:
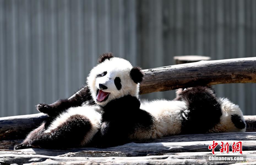
[[[113, 57], [109, 60], [106, 59], [104, 62], [98, 64], [94, 67], [89, 76], [87, 77], [87, 84], [91, 91], [92, 98], [99, 105], [106, 105], [109, 101], [121, 98], [125, 95], [131, 95], [138, 97], [139, 84], [136, 84], [131, 76], [130, 71], [132, 65], [126, 59]], [[98, 74], [107, 71], [107, 74], [103, 77], [96, 78]], [[115, 86], [114, 80], [116, 77], [121, 79], [122, 87], [118, 90]], [[99, 84], [103, 84], [108, 87], [108, 89], [103, 90], [104, 92], [109, 92], [110, 95], [108, 99], [103, 102], [98, 102], [96, 100], [97, 90], [99, 89]]]

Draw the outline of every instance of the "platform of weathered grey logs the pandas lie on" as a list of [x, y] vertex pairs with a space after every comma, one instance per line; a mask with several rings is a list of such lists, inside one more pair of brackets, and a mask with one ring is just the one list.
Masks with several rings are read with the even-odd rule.
[[[66, 150], [23, 149], [0, 150], [0, 162], [6, 164], [234, 164], [238, 162], [209, 162], [212, 156], [208, 145], [215, 140], [232, 144], [242, 141], [243, 156], [247, 161], [242, 164], [256, 164], [256, 132], [209, 133], [167, 136], [152, 141], [128, 143], [106, 149], [75, 148]], [[3, 143], [4, 141], [1, 141]], [[15, 143], [15, 142], [14, 142]], [[219, 152], [216, 155], [240, 155]]]

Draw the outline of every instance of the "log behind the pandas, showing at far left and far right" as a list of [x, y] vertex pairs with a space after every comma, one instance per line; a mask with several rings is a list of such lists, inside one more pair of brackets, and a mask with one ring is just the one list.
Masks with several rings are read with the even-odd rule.
[[[38, 127], [46, 118], [47, 115], [43, 113], [0, 118], [0, 140], [24, 139], [31, 130]], [[256, 132], [256, 116], [244, 116], [244, 118], [247, 124], [246, 132]]]

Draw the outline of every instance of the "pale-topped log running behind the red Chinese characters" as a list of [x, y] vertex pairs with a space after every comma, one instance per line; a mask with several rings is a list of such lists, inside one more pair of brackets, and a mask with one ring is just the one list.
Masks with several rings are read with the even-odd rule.
[[[214, 140], [214, 137], [213, 137]], [[228, 142], [233, 144], [233, 142], [238, 142], [237, 140], [221, 140], [223, 142]], [[256, 150], [255, 140], [240, 140], [243, 143], [243, 150]], [[216, 140], [217, 143], [221, 144], [220, 141]], [[37, 155], [47, 155], [47, 156], [58, 156], [63, 155], [68, 152], [81, 152], [81, 151], [115, 151], [125, 153], [128, 157], [138, 157], [146, 156], [149, 153], [159, 153], [159, 152], [208, 152], [208, 146], [213, 144], [213, 141], [190, 141], [190, 142], [165, 142], [165, 143], [127, 143], [122, 146], [109, 147], [105, 149], [100, 148], [74, 148], [74, 149], [22, 149], [20, 151], [29, 154]], [[230, 145], [230, 150], [232, 150], [232, 145]], [[218, 145], [216, 151], [220, 149]], [[2, 151], [0, 151], [1, 153]]]

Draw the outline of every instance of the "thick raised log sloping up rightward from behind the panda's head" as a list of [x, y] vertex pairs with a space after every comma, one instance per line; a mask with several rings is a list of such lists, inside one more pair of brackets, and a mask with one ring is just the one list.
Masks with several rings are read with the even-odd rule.
[[144, 70], [140, 93], [151, 93], [196, 85], [255, 83], [256, 57], [165, 66]]

